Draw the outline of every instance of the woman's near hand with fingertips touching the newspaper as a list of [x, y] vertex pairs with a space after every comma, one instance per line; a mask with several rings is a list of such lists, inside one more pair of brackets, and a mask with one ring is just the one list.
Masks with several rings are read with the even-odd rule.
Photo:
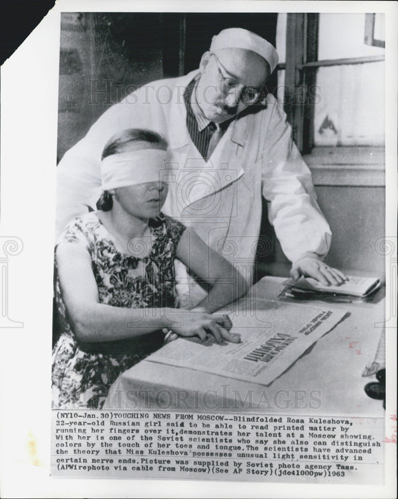
[[203, 310], [173, 311], [170, 328], [179, 336], [199, 336], [206, 341], [207, 334], [211, 334], [217, 343], [230, 341], [240, 343], [240, 335], [231, 333], [232, 322], [227, 314], [209, 314]]

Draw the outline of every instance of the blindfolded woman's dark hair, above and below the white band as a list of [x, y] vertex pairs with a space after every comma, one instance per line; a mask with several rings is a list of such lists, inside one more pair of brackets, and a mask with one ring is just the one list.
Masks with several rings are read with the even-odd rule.
[[[129, 128], [113, 135], [105, 144], [102, 151], [101, 160], [113, 154], [121, 154], [126, 146], [131, 142], [150, 142], [159, 144], [166, 151], [168, 147], [167, 140], [162, 135], [143, 128]], [[112, 209], [112, 196], [108, 191], [102, 191], [100, 199], [97, 201], [97, 209], [108, 212]]]

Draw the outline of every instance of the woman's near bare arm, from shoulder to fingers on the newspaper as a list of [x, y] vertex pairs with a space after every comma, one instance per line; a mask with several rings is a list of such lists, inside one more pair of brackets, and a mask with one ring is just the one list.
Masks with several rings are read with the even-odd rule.
[[[209, 314], [172, 308], [122, 308], [100, 303], [88, 251], [73, 243], [62, 243], [57, 246], [55, 256], [62, 297], [79, 340], [113, 341], [167, 328], [176, 329], [181, 336], [197, 335], [203, 341], [208, 331], [216, 341], [222, 341], [215, 328], [215, 318]], [[233, 336], [233, 339], [238, 341], [239, 338]]]

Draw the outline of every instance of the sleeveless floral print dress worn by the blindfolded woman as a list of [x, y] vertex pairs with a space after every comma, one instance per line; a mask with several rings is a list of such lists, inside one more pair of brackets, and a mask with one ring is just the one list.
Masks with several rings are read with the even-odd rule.
[[[125, 308], [175, 307], [174, 259], [185, 226], [161, 214], [150, 220], [149, 228], [152, 249], [142, 258], [119, 252], [95, 212], [73, 219], [58, 244], [77, 244], [90, 253], [100, 303]], [[119, 374], [162, 346], [164, 333], [81, 342], [73, 333], [57, 275], [55, 297], [61, 334], [52, 354], [53, 408], [101, 409]]]

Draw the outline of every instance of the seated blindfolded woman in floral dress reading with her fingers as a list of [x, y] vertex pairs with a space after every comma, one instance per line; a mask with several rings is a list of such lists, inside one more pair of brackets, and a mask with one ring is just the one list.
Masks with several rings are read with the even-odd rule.
[[[161, 213], [166, 149], [148, 130], [112, 137], [102, 153], [101, 209], [76, 217], [58, 240], [62, 332], [53, 349], [54, 407], [100, 409], [119, 374], [162, 346], [164, 331], [240, 341], [229, 332], [228, 316], [212, 312], [245, 294], [245, 280], [193, 231]], [[191, 311], [176, 309], [175, 258], [212, 286]]]

